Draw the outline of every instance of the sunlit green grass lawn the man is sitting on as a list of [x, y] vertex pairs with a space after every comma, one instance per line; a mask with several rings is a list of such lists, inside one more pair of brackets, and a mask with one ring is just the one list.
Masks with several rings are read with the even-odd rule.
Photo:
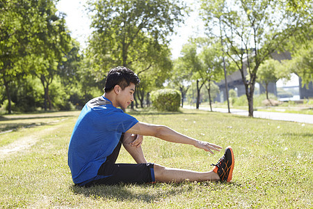
[[[79, 111], [0, 116], [0, 208], [313, 207], [313, 125], [191, 109], [130, 114], [232, 146], [232, 183], [76, 187], [67, 146]], [[196, 171], [211, 170], [223, 155], [153, 137], [145, 137], [143, 150], [150, 162]], [[118, 162], [134, 160], [122, 148]]]

